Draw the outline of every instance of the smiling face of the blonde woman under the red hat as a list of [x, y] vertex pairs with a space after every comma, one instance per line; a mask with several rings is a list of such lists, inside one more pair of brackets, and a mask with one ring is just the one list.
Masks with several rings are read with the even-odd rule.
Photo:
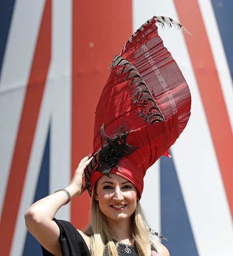
[[122, 221], [134, 213], [137, 204], [137, 189], [129, 180], [111, 174], [103, 175], [97, 181], [95, 200], [107, 219]]

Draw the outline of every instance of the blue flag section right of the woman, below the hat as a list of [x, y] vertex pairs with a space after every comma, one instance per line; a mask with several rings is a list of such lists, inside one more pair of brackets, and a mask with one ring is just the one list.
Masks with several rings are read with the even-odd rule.
[[173, 158], [160, 158], [161, 230], [171, 256], [198, 256]]

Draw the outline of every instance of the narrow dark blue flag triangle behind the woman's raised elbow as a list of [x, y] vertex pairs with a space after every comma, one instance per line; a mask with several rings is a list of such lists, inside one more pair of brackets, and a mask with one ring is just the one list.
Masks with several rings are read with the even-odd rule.
[[[48, 130], [47, 140], [45, 144], [41, 170], [37, 182], [34, 202], [45, 197], [49, 193], [49, 170], [50, 170], [50, 128]], [[42, 256], [41, 246], [37, 240], [28, 232], [24, 245], [23, 256]]]

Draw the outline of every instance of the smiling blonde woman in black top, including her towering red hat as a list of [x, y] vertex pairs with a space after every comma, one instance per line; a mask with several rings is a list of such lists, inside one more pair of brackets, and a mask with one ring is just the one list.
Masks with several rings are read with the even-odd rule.
[[[97, 104], [95, 153], [82, 159], [66, 189], [26, 212], [26, 226], [47, 250], [44, 255], [169, 255], [161, 243], [150, 241], [139, 200], [147, 169], [163, 154], [170, 156], [170, 146], [185, 128], [191, 97], [156, 24], [183, 28], [154, 16], [129, 38], [113, 58]], [[91, 195], [91, 223], [85, 232], [54, 219], [61, 206], [85, 189]]]

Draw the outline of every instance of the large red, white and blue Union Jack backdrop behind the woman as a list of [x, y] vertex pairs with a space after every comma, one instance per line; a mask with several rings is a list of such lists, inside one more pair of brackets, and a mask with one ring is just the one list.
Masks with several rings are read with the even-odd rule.
[[[26, 209], [64, 188], [92, 152], [95, 106], [108, 66], [153, 15], [192, 93], [191, 117], [145, 177], [142, 206], [171, 256], [233, 255], [233, 1], [0, 2], [0, 255], [39, 256]], [[88, 193], [56, 217], [88, 223]]]

